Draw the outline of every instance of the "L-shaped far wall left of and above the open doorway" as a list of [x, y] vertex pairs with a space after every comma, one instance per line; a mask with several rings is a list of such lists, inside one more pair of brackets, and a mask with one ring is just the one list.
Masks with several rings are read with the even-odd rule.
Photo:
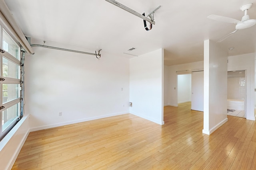
[[[165, 83], [165, 86], [168, 86], [168, 91], [166, 98], [164, 98], [165, 106], [178, 106], [178, 91], [177, 91], [177, 73], [176, 71], [182, 70], [195, 70], [195, 69], [204, 68], [204, 62], [198, 61], [194, 63], [179, 64], [173, 66], [165, 66], [165, 70], [168, 74], [168, 83]], [[164, 79], [166, 81], [166, 79]], [[174, 89], [175, 88], [175, 89]], [[165, 88], [166, 89], [166, 88]]]

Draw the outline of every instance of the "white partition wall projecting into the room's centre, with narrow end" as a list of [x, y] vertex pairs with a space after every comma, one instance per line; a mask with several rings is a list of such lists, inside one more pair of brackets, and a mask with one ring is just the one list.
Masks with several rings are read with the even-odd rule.
[[130, 59], [130, 113], [164, 124], [164, 50]]

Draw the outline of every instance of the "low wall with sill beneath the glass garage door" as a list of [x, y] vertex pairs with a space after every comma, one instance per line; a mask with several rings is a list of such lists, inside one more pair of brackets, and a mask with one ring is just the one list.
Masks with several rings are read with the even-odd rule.
[[12, 168], [20, 149], [29, 133], [29, 115], [25, 115], [14, 128], [0, 141], [0, 170]]

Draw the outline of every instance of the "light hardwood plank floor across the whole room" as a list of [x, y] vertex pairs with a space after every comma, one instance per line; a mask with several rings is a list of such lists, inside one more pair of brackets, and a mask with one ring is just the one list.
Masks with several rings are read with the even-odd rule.
[[190, 103], [164, 107], [164, 121], [126, 114], [31, 132], [12, 169], [256, 169], [255, 121], [228, 116], [205, 135]]

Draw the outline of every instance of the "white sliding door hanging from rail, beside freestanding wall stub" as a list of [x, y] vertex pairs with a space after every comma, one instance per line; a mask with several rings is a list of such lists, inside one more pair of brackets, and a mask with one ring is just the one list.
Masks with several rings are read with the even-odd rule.
[[191, 109], [204, 111], [204, 72], [193, 72], [191, 84]]

